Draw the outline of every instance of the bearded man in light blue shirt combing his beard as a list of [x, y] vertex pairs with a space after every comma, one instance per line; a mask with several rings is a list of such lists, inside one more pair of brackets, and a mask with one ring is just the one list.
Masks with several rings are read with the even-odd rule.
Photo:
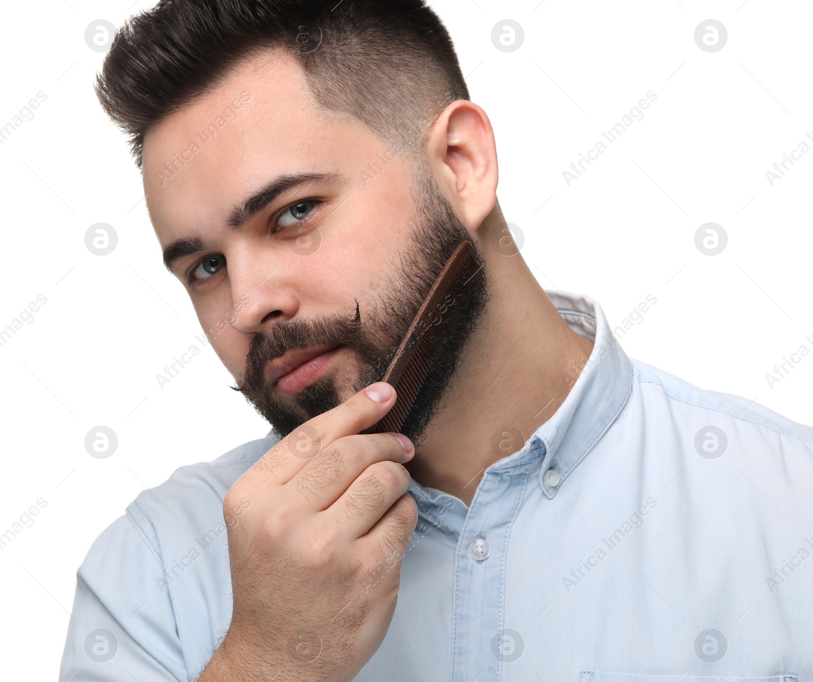
[[[60, 679], [810, 678], [813, 429], [543, 291], [436, 15], [333, 5], [163, 0], [107, 56], [164, 261], [272, 432], [99, 536]], [[402, 433], [363, 433], [462, 240]]]

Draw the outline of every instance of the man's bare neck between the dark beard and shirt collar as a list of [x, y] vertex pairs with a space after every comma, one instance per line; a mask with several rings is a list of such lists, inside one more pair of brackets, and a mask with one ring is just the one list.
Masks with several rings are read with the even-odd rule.
[[[490, 248], [498, 207], [480, 226], [491, 298], [415, 457], [418, 483], [470, 505], [486, 467], [520, 450], [564, 402], [593, 343], [556, 311], [520, 254]], [[520, 435], [521, 434], [521, 435]]]

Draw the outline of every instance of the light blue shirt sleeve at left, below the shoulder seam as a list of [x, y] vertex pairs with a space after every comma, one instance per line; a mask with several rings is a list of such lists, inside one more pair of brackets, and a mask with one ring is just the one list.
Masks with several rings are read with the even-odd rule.
[[59, 672], [67, 680], [188, 679], [157, 536], [136, 504], [93, 542]]

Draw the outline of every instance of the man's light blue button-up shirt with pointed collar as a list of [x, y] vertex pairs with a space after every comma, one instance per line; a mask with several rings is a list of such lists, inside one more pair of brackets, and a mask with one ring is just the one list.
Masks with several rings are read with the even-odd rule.
[[[596, 302], [547, 293], [587, 366], [471, 506], [412, 482], [398, 606], [355, 680], [813, 680], [813, 428], [631, 361]], [[181, 467], [102, 532], [61, 682], [205, 667], [232, 613], [223, 497], [277, 440]]]

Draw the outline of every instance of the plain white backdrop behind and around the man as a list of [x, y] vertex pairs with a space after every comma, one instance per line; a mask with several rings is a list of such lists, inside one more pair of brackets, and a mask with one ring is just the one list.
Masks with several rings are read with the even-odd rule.
[[[150, 2], [2, 6], [0, 127], [42, 90], [35, 117], [0, 145], [0, 328], [43, 294], [32, 324], [0, 347], [0, 532], [35, 503], [35, 523], [0, 550], [3, 676], [56, 675], [76, 568], [93, 539], [145, 487], [210, 460], [268, 426], [228, 389], [211, 349], [165, 384], [155, 378], [201, 333], [161, 263], [124, 137], [92, 81], [103, 54], [85, 28], [119, 26]], [[765, 172], [813, 134], [813, 11], [803, 2], [437, 0], [472, 100], [488, 112], [498, 198], [524, 233], [546, 289], [587, 293], [620, 323], [658, 302], [621, 339], [633, 358], [706, 389], [813, 422], [813, 356], [771, 388], [766, 374], [813, 349], [811, 174], [802, 156], [771, 186]], [[337, 10], [338, 11], [338, 10]], [[728, 42], [698, 48], [720, 20]], [[519, 50], [491, 41], [524, 28]], [[652, 90], [657, 99], [586, 172], [562, 172]], [[544, 206], [543, 206], [544, 205]], [[114, 226], [107, 256], [85, 248]], [[728, 245], [701, 254], [694, 233], [721, 224]], [[110, 458], [85, 451], [89, 429], [118, 436]]]

